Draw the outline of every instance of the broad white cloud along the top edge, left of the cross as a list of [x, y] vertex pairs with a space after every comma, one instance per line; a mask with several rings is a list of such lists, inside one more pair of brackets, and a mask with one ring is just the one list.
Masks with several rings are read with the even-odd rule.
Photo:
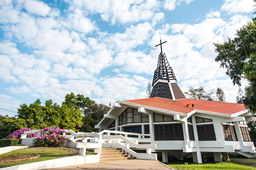
[[102, 20], [111, 21], [112, 24], [149, 20], [154, 14], [153, 11], [159, 7], [156, 0], [95, 0], [93, 3], [90, 0], [75, 0], [70, 5], [99, 13]]

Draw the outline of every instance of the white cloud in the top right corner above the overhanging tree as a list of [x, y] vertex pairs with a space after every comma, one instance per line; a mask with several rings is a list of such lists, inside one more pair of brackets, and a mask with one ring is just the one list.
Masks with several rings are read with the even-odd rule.
[[239, 12], [249, 13], [254, 10], [255, 2], [253, 0], [225, 0], [221, 10], [229, 14], [236, 14]]

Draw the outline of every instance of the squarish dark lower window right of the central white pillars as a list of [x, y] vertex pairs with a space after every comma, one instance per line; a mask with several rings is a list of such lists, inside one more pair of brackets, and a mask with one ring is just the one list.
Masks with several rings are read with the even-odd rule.
[[198, 140], [199, 141], [215, 141], [215, 131], [213, 124], [209, 125], [197, 125]]

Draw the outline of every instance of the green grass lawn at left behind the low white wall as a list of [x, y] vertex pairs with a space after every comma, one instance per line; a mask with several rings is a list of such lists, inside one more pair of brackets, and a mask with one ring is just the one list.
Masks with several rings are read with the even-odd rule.
[[[86, 154], [93, 154], [93, 151], [90, 151], [89, 153]], [[40, 158], [38, 159], [28, 159], [28, 160], [23, 160], [23, 161], [10, 161], [10, 162], [2, 162], [0, 163], [0, 168], [3, 167], [10, 167], [10, 166], [15, 166], [15, 165], [20, 165], [20, 164], [28, 164], [32, 162], [38, 162], [38, 161], [46, 161], [50, 159], [57, 159], [57, 158], [64, 158], [67, 156], [75, 156], [79, 155], [76, 149], [71, 149], [71, 148], [54, 148], [54, 147], [49, 147], [49, 148], [40, 148], [40, 147], [30, 147], [30, 148], [24, 148], [20, 150], [14, 150], [9, 153], [4, 153], [0, 155], [0, 159], [3, 157], [15, 157], [15, 158], [23, 158], [23, 155], [29, 155], [31, 156], [37, 156], [40, 155]]]

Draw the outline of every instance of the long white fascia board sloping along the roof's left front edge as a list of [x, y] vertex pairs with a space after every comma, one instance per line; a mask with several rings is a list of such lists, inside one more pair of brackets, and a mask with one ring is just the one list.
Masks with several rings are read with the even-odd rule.
[[153, 107], [150, 107], [150, 106], [138, 105], [138, 104], [134, 104], [134, 103], [130, 103], [130, 102], [124, 102], [124, 101], [119, 101], [119, 102], [121, 104], [124, 104], [124, 105], [130, 105], [130, 106], [134, 106], [134, 107], [137, 107], [137, 108], [144, 108], [144, 109], [148, 109], [148, 110], [151, 110], [151, 111], [167, 113], [167, 114], [171, 114], [171, 115], [180, 115], [180, 116], [183, 116], [183, 117], [187, 117], [188, 116], [186, 113], [167, 111], [167, 110], [160, 109], [160, 108], [153, 108]]

